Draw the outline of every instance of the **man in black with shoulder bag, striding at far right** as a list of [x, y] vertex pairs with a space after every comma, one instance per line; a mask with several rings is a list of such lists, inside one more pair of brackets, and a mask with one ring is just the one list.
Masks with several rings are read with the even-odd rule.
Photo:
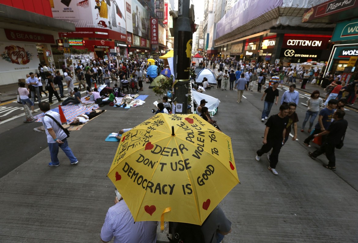
[[342, 141], [342, 137], [345, 135], [345, 131], [348, 127], [347, 120], [343, 119], [344, 115], [345, 112], [342, 110], [336, 110], [334, 112], [334, 122], [329, 125], [328, 129], [326, 131], [314, 135], [314, 137], [327, 135], [326, 140], [318, 150], [314, 151], [313, 153], [308, 152], [308, 155], [312, 159], [315, 159], [321, 154], [326, 153], [328, 165], [323, 164], [323, 166], [330, 170], [336, 169], [334, 149]]

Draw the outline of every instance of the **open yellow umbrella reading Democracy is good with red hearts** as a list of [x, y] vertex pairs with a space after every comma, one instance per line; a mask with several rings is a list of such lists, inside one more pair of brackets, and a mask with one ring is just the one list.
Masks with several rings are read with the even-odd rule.
[[135, 221], [161, 226], [201, 225], [239, 183], [231, 138], [196, 114], [158, 113], [124, 133], [108, 177]]

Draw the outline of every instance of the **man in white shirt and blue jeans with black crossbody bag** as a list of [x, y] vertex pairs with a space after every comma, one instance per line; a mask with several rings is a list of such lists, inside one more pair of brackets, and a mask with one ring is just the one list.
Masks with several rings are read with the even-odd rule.
[[62, 151], [67, 155], [68, 159], [71, 162], [71, 165], [77, 164], [78, 160], [73, 155], [71, 148], [68, 146], [67, 135], [63, 130], [61, 125], [60, 114], [50, 110], [50, 104], [48, 102], [39, 103], [40, 111], [45, 113], [45, 116], [42, 118], [42, 123], [45, 127], [45, 132], [47, 135], [47, 143], [50, 150], [51, 162], [49, 166], [59, 166], [60, 161], [58, 160], [58, 148], [61, 148]]

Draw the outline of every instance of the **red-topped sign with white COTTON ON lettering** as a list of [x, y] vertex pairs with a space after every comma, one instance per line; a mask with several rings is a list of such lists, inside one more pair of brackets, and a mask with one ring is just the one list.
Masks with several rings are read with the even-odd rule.
[[285, 34], [282, 48], [327, 49], [331, 37], [330, 35]]

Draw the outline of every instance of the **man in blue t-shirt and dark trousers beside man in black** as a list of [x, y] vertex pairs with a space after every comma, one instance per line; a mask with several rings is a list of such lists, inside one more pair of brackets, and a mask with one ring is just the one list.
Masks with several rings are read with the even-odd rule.
[[[310, 136], [308, 136], [303, 141], [304, 145], [306, 145], [307, 147], [311, 147], [310, 141], [313, 140], [314, 135], [320, 132], [324, 132], [328, 129], [329, 125], [331, 125], [333, 119], [333, 113], [335, 108], [337, 107], [337, 104], [338, 104], [337, 99], [331, 99], [330, 101], [328, 101], [328, 106], [319, 112], [318, 122], [314, 127], [314, 131]], [[321, 136], [323, 136], [322, 143], [324, 143], [325, 136], [324, 135]]]

